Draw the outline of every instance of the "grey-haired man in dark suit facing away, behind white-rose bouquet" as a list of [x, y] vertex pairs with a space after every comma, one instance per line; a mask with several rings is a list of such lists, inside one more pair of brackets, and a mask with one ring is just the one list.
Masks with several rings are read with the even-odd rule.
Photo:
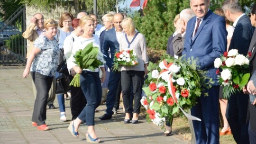
[[[229, 50], [238, 49], [239, 54], [246, 56], [254, 30], [250, 19], [243, 13], [238, 0], [225, 0], [222, 9], [226, 18], [233, 22], [233, 27], [235, 27]], [[248, 98], [247, 94], [240, 91], [231, 95], [228, 99], [226, 117], [233, 137], [238, 144], [249, 144], [247, 123]]]

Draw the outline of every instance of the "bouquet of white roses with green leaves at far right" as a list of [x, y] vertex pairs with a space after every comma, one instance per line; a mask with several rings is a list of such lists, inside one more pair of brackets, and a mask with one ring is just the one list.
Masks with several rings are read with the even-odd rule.
[[246, 86], [250, 78], [249, 57], [238, 54], [237, 49], [231, 49], [224, 52], [220, 58], [214, 61], [214, 67], [218, 68], [216, 73], [219, 74], [219, 83], [223, 86], [223, 96], [228, 99], [231, 94], [235, 94]]

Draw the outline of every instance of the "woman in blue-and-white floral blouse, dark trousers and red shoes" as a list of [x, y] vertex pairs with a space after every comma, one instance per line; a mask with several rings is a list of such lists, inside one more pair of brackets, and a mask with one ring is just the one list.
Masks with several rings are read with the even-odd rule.
[[38, 130], [48, 130], [46, 125], [46, 103], [55, 71], [57, 69], [59, 48], [55, 39], [58, 23], [54, 19], [47, 19], [44, 23], [46, 33], [37, 38], [34, 48], [27, 59], [23, 78], [31, 73], [37, 89], [37, 98], [32, 115], [32, 126]]

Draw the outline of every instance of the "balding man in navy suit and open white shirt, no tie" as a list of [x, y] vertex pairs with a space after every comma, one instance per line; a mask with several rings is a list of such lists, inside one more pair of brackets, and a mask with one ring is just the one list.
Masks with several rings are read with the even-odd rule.
[[[109, 91], [106, 99], [106, 112], [103, 116], [99, 117], [101, 120], [111, 119], [113, 115], [113, 107], [116, 100], [116, 93], [119, 84], [119, 80], [121, 78], [121, 72], [113, 72], [113, 63], [114, 63], [114, 55], [116, 52], [119, 52], [119, 38], [124, 35], [123, 28], [121, 27], [121, 22], [124, 19], [123, 15], [117, 13], [113, 17], [114, 27], [105, 32], [103, 45], [102, 45], [102, 53], [105, 55], [104, 59], [106, 64], [110, 68], [110, 78], [109, 78]], [[110, 49], [111, 57], [108, 53]]]

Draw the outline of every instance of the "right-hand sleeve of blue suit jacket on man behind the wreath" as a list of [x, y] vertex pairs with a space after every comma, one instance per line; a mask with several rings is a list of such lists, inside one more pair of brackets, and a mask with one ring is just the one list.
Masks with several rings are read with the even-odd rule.
[[[203, 70], [213, 65], [214, 60], [220, 57], [227, 49], [227, 30], [223, 17], [218, 17], [213, 21], [212, 33], [212, 51], [199, 59], [199, 69]], [[207, 31], [206, 31], [207, 32]], [[203, 41], [203, 39], [202, 39]], [[210, 45], [210, 44], [208, 44]], [[185, 50], [185, 49], [184, 49]]]

